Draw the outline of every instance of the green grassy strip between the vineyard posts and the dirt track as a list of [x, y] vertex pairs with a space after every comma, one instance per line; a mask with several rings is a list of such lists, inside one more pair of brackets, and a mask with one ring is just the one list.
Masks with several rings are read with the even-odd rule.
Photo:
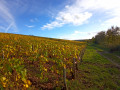
[[77, 73], [77, 79], [68, 82], [68, 87], [71, 90], [120, 89], [119, 69], [100, 56], [94, 47], [87, 47]]

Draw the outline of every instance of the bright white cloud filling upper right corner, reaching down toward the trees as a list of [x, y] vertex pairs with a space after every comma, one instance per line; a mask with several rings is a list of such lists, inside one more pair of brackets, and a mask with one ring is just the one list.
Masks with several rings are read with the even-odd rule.
[[120, 0], [77, 0], [77, 4], [85, 11], [104, 13], [101, 17], [106, 20], [101, 23], [105, 27], [120, 26]]

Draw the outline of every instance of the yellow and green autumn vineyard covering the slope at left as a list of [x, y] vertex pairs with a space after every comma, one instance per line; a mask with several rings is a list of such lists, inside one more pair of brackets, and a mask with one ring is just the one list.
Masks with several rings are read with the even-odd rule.
[[0, 33], [0, 89], [53, 89], [75, 78], [86, 43]]

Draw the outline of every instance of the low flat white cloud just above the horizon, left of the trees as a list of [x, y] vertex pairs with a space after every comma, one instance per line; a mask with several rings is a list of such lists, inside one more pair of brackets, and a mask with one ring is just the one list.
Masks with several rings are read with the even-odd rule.
[[81, 32], [81, 31], [74, 31], [72, 34], [67, 34], [60, 36], [60, 39], [67, 39], [67, 40], [81, 40], [81, 39], [90, 39], [95, 36], [98, 32]]

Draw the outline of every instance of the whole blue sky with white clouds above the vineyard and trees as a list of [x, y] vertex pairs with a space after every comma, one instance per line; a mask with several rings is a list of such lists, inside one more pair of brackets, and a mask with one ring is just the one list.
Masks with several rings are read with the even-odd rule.
[[0, 0], [0, 32], [90, 39], [120, 26], [120, 0]]

